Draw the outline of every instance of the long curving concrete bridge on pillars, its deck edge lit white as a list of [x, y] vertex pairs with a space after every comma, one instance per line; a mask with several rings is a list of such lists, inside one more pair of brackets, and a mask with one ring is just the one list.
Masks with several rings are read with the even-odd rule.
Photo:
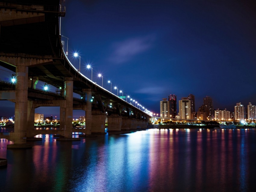
[[[85, 111], [85, 135], [146, 128], [151, 115], [99, 86], [68, 60], [61, 44], [59, 17], [65, 7], [59, 0], [0, 1], [0, 65], [15, 73], [14, 84], [0, 81], [0, 100], [15, 102], [14, 132], [1, 134], [14, 142], [9, 148], [30, 147], [26, 142], [38, 134], [72, 138], [73, 109]], [[39, 90], [38, 81], [53, 85], [58, 93]], [[73, 98], [73, 93], [81, 98]], [[59, 130], [35, 130], [37, 107], [60, 107]]]

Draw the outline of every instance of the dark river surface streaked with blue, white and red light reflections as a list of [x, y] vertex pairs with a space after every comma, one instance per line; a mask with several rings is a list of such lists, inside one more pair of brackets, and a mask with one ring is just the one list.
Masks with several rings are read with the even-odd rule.
[[[256, 191], [256, 130], [149, 129], [32, 149], [0, 139], [0, 191]], [[77, 137], [77, 135], [76, 135]]]

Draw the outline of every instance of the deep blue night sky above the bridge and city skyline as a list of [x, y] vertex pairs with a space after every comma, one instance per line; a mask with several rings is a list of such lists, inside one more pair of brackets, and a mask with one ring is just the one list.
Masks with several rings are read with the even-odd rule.
[[[61, 18], [61, 35], [69, 38], [68, 58], [81, 73], [110, 90], [108, 80], [145, 108], [160, 111], [162, 98], [195, 95], [195, 109], [203, 98], [214, 109], [233, 112], [236, 103], [256, 105], [255, 1], [70, 1]], [[64, 50], [67, 49], [67, 39]], [[0, 75], [2, 76], [2, 72]], [[38, 84], [37, 88], [39, 87]], [[54, 90], [54, 89], [53, 89]], [[120, 95], [120, 94], [119, 94]], [[14, 104], [0, 116], [13, 116]], [[178, 107], [178, 105], [177, 105]], [[45, 116], [59, 116], [58, 107]], [[73, 116], [84, 115], [74, 111]]]

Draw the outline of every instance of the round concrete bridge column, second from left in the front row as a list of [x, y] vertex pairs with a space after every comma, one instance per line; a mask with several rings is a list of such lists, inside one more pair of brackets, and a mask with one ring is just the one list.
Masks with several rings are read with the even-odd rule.
[[64, 114], [64, 138], [72, 138], [73, 120], [73, 77], [64, 79], [64, 95], [67, 101]]

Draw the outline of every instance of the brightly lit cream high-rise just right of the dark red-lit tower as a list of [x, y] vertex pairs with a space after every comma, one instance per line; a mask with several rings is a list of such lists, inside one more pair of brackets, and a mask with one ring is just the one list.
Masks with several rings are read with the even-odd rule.
[[191, 119], [191, 101], [188, 98], [181, 98], [179, 101], [180, 119]]

